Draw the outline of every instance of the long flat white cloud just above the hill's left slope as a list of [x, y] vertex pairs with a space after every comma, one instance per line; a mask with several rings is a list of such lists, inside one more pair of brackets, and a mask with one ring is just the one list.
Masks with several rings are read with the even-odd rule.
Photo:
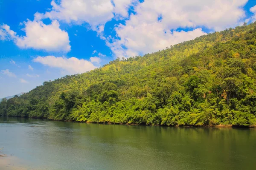
[[66, 58], [54, 56], [38, 56], [33, 59], [33, 62], [40, 62], [41, 64], [54, 68], [62, 68], [68, 71], [70, 74], [84, 73], [96, 68], [92, 62], [84, 59], [78, 59], [76, 57]]

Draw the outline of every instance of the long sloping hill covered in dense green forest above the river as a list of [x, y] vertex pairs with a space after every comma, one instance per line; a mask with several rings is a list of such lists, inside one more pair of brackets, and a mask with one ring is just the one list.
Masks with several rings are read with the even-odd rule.
[[256, 23], [44, 82], [0, 115], [146, 125], [256, 125]]

